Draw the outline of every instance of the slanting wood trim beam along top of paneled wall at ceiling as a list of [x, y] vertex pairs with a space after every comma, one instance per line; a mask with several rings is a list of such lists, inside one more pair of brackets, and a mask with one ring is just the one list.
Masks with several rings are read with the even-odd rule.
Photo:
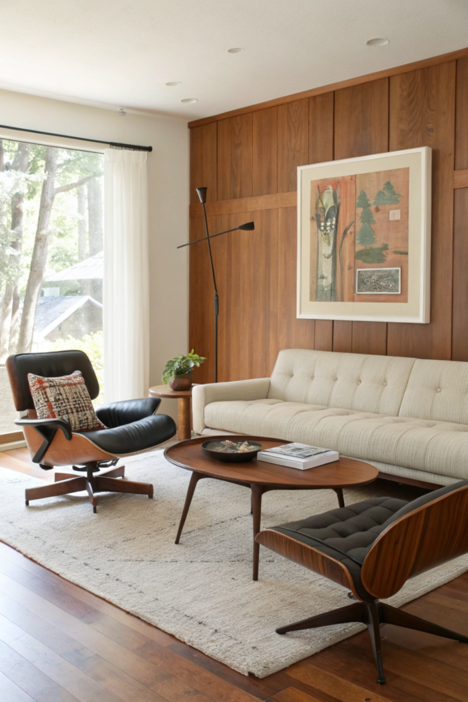
[[408, 73], [417, 69], [427, 68], [429, 66], [435, 66], [441, 63], [455, 61], [457, 59], [462, 58], [468, 58], [468, 47], [459, 49], [458, 51], [450, 51], [450, 53], [443, 53], [439, 56], [424, 58], [420, 61], [414, 61], [413, 63], [406, 63], [403, 66], [386, 68], [382, 71], [369, 73], [365, 76], [348, 78], [345, 81], [338, 81], [337, 83], [330, 83], [326, 86], [311, 88], [310, 90], [302, 91], [302, 93], [293, 93], [292, 95], [284, 95], [282, 98], [275, 98], [274, 100], [267, 100], [266, 102], [258, 102], [257, 105], [239, 107], [239, 109], [237, 110], [229, 110], [229, 112], [213, 114], [211, 117], [201, 117], [201, 119], [194, 119], [193, 121], [189, 122], [188, 127], [192, 129], [197, 126], [201, 126], [202, 124], [208, 124], [209, 122], [218, 121], [219, 119], [226, 119], [227, 117], [237, 117], [239, 114], [248, 114], [249, 112], [256, 112], [257, 110], [265, 110], [265, 108], [267, 107], [277, 107], [278, 105], [285, 105], [286, 102], [295, 102], [295, 100], [313, 98], [315, 95], [331, 93], [335, 90], [340, 90], [341, 88], [349, 88], [349, 86], [356, 86], [361, 83], [369, 83], [370, 81], [375, 81], [380, 78], [388, 78], [397, 74]]

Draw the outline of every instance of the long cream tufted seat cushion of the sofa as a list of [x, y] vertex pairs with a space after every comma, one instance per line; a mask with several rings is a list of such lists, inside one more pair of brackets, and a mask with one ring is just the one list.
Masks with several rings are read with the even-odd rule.
[[468, 475], [468, 425], [278, 399], [212, 402], [204, 416], [213, 429], [324, 446], [361, 461], [457, 479]]

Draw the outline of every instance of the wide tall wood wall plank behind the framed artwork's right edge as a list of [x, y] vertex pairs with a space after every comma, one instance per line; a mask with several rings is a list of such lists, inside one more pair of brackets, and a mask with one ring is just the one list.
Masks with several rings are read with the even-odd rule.
[[450, 359], [455, 61], [390, 79], [390, 150], [432, 147], [430, 324], [389, 324], [392, 356]]

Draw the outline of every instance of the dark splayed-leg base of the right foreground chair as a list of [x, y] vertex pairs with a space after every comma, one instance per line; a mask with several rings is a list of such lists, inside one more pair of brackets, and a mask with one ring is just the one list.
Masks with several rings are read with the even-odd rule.
[[382, 665], [382, 644], [380, 640], [380, 624], [394, 624], [402, 626], [406, 629], [415, 629], [423, 631], [427, 634], [443, 636], [446, 639], [453, 639], [468, 644], [468, 637], [458, 634], [450, 629], [443, 628], [438, 624], [433, 624], [425, 619], [420, 619], [413, 614], [391, 607], [389, 604], [373, 600], [371, 602], [356, 602], [348, 604], [347, 607], [340, 607], [317, 614], [309, 619], [297, 621], [288, 626], [281, 626], [276, 629], [277, 634], [286, 634], [288, 631], [300, 631], [302, 629], [316, 629], [321, 626], [330, 626], [333, 624], [349, 624], [352, 622], [361, 622], [366, 624], [369, 630], [370, 643], [374, 654], [375, 665], [377, 666], [377, 682], [380, 685], [385, 684], [384, 669]]

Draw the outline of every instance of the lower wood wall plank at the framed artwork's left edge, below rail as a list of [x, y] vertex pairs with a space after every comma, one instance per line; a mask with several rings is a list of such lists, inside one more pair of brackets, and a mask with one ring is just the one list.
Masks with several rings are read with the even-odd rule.
[[315, 320], [296, 318], [297, 208], [278, 210], [278, 349], [313, 349]]

